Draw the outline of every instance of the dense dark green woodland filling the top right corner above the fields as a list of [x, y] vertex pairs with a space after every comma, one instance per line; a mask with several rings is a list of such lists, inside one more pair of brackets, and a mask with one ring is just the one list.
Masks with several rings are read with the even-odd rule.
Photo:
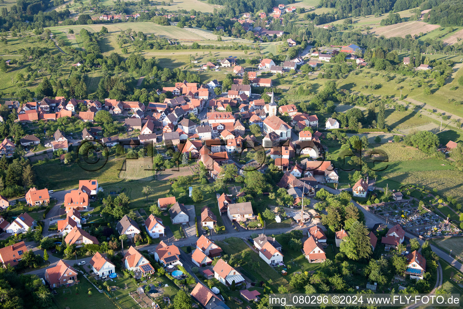
[[430, 24], [441, 26], [462, 26], [463, 25], [463, 1], [446, 0], [438, 6], [433, 6], [429, 15], [424, 19]]

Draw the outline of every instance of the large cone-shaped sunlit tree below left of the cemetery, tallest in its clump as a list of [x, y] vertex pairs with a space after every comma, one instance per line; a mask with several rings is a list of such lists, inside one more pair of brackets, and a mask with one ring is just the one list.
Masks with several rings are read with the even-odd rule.
[[339, 251], [349, 259], [366, 259], [371, 255], [369, 230], [359, 221], [354, 222], [349, 230], [349, 235], [344, 237]]

